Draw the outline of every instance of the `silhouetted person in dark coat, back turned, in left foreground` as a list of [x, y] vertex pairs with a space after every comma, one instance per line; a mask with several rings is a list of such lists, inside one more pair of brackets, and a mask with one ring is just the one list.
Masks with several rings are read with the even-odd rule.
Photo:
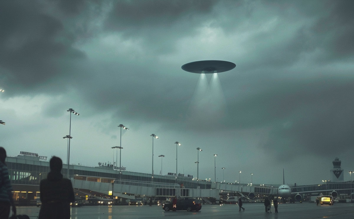
[[70, 219], [70, 202], [75, 201], [73, 185], [60, 173], [62, 160], [53, 156], [49, 161], [50, 172], [39, 185], [42, 202], [38, 219]]

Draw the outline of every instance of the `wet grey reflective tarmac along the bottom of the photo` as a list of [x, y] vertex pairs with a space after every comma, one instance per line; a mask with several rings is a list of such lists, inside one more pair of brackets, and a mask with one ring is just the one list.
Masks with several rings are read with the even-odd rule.
[[[72, 219], [353, 219], [354, 203], [335, 203], [333, 206], [316, 206], [315, 203], [279, 204], [278, 212], [265, 213], [263, 203], [244, 203], [245, 211], [237, 205], [203, 205], [199, 212], [165, 212], [161, 206], [84, 206], [72, 208]], [[31, 219], [38, 216], [39, 207], [17, 207], [18, 214]]]

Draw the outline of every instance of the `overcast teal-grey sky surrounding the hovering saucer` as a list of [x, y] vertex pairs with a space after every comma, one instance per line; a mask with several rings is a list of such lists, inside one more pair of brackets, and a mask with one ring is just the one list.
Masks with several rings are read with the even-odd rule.
[[[0, 1], [8, 156], [228, 182], [317, 184], [354, 170], [354, 1]], [[228, 72], [183, 71], [225, 60]], [[208, 85], [209, 84], [209, 85]], [[203, 87], [204, 86], [204, 87]], [[119, 152], [118, 152], [119, 163]]]

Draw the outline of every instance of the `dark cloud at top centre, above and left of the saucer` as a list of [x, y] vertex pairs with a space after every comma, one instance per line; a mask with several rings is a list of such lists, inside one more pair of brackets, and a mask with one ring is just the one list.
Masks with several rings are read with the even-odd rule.
[[105, 28], [127, 39], [141, 39], [154, 53], [171, 52], [175, 41], [200, 27], [218, 1], [115, 1]]

